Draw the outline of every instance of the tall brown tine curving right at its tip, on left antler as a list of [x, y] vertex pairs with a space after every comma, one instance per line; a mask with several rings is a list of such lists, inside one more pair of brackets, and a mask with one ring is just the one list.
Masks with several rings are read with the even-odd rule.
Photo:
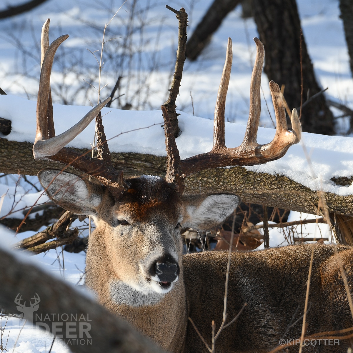
[[48, 138], [48, 99], [50, 92], [50, 74], [56, 50], [60, 44], [68, 38], [65, 34], [50, 44], [42, 63], [41, 77], [38, 88], [37, 99], [37, 132], [35, 144], [38, 140], [46, 140]]

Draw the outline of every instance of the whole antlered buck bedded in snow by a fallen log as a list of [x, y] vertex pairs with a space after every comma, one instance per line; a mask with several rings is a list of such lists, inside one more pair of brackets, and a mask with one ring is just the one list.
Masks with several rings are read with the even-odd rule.
[[[226, 148], [224, 140], [224, 108], [232, 65], [229, 40], [216, 101], [213, 149], [181, 161], [170, 133], [168, 113], [162, 109], [166, 178], [142, 175], [124, 179], [122, 171], [109, 163], [108, 153], [94, 159], [64, 147], [108, 100], [92, 109], [77, 126], [55, 137], [50, 72], [55, 51], [67, 37], [49, 46], [48, 23], [43, 26], [33, 152], [35, 158], [64, 162], [79, 170], [80, 176], [45, 169], [38, 177], [53, 201], [94, 219], [96, 229], [89, 239], [85, 284], [98, 301], [170, 352], [298, 351], [296, 340], [303, 330], [303, 351], [347, 352], [353, 337], [350, 247], [287, 246], [247, 253], [205, 251], [182, 255], [181, 228], [209, 229], [231, 215], [240, 202], [238, 196], [227, 193], [186, 195], [186, 175], [207, 168], [275, 160], [300, 140], [296, 110], [291, 116], [292, 131], [288, 131], [281, 91], [270, 82], [276, 134], [268, 144], [256, 142], [262, 43], [255, 38], [257, 56], [249, 121], [239, 147]], [[102, 146], [108, 152], [104, 138]]]

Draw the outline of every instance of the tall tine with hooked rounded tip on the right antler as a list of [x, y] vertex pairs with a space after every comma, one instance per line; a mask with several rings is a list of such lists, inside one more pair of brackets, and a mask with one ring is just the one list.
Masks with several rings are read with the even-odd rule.
[[242, 145], [256, 144], [257, 129], [261, 114], [261, 74], [264, 65], [265, 49], [258, 38], [254, 38], [256, 43], [256, 59], [252, 70], [250, 81], [250, 110], [247, 121], [245, 136]]

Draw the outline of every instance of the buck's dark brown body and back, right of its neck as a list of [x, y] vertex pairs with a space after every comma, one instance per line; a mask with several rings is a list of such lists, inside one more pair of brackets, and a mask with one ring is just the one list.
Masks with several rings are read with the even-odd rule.
[[[340, 338], [353, 326], [340, 268], [342, 262], [352, 293], [353, 250], [343, 245], [314, 246], [305, 337]], [[300, 339], [311, 251], [309, 244], [232, 253], [226, 324], [241, 314], [218, 337], [216, 352], [269, 352], [281, 339]], [[222, 323], [227, 260], [226, 252], [184, 256], [188, 316], [210, 347], [211, 323], [215, 322], [216, 330]], [[346, 333], [337, 332], [344, 329]], [[318, 334], [327, 331], [335, 334]], [[187, 352], [205, 352], [190, 321], [186, 342]], [[316, 346], [320, 352], [347, 352], [351, 347], [349, 340], [342, 339], [335, 346], [321, 343]], [[299, 344], [288, 348], [298, 352]], [[313, 352], [313, 346], [304, 347], [306, 351]]]

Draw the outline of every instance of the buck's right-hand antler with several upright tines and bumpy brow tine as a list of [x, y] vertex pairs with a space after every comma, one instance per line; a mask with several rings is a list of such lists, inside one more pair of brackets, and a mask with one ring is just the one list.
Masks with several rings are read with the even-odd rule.
[[[231, 38], [228, 38], [226, 62], [223, 67], [222, 78], [215, 107], [213, 148], [210, 152], [199, 154], [180, 161], [178, 166], [174, 165], [173, 169], [178, 170], [179, 175], [176, 178], [182, 176], [185, 177], [191, 173], [209, 168], [226, 166], [251, 166], [273, 161], [284, 156], [289, 146], [300, 141], [301, 125], [297, 110], [294, 108], [292, 111], [292, 131], [288, 131], [285, 108], [282, 103], [281, 90], [275, 82], [271, 81], [270, 91], [276, 115], [276, 134], [270, 143], [257, 143], [257, 129], [261, 112], [261, 73], [264, 63], [265, 51], [262, 42], [258, 38], [254, 38], [254, 41], [257, 47], [257, 55], [251, 76], [250, 112], [243, 142], [236, 148], [227, 148], [225, 145], [225, 105], [233, 55], [232, 40]], [[168, 119], [166, 119], [164, 113], [163, 117], [165, 125], [168, 125], [169, 122]], [[174, 138], [169, 134], [167, 138], [167, 132], [168, 129], [166, 128], [165, 134], [168, 160], [167, 169], [169, 170], [169, 160], [172, 159], [170, 156], [177, 154], [179, 155], [179, 152], [175, 151], [176, 144]], [[173, 178], [169, 178], [168, 181], [171, 182], [174, 180]]]

